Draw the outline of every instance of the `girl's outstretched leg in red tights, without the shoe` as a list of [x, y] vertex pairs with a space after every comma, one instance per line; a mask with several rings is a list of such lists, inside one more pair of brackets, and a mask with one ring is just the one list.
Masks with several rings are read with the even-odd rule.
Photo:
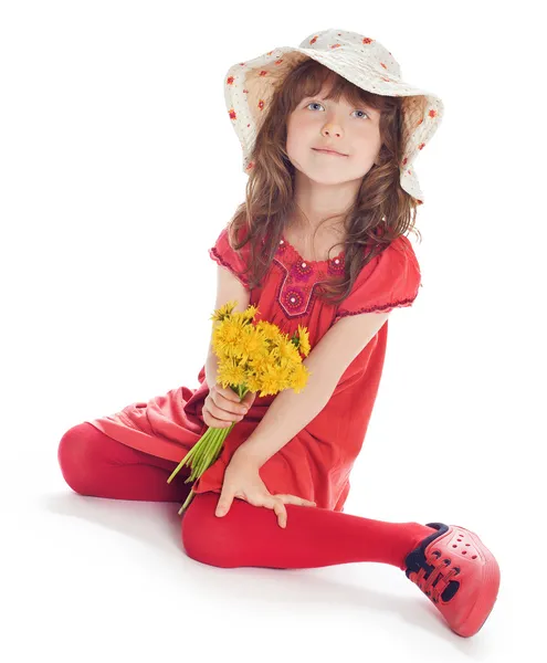
[[299, 569], [378, 561], [400, 569], [406, 556], [432, 532], [419, 523], [383, 523], [315, 506], [286, 504], [287, 526], [272, 509], [235, 498], [225, 516], [220, 495], [194, 495], [182, 517], [190, 557], [219, 567]]

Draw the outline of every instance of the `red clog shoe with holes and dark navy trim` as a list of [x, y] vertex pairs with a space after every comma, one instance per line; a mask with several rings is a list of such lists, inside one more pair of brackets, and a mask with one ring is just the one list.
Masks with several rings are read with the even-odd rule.
[[433, 532], [404, 559], [407, 577], [463, 638], [477, 633], [496, 602], [499, 567], [478, 536], [459, 525], [428, 523]]

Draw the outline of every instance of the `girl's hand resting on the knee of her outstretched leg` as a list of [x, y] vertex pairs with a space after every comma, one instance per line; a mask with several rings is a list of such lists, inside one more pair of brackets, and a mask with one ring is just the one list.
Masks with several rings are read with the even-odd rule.
[[225, 470], [222, 493], [217, 504], [215, 516], [225, 516], [233, 498], [240, 497], [253, 506], [272, 508], [277, 515], [280, 527], [286, 527], [287, 512], [285, 504], [316, 506], [315, 502], [295, 495], [272, 495], [260, 477], [259, 469], [249, 456], [235, 452]]

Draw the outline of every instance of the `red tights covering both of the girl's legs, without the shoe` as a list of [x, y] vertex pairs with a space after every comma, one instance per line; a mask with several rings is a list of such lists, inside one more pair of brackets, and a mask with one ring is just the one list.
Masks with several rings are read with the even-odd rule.
[[[66, 431], [59, 463], [76, 493], [113, 499], [182, 503], [191, 487], [188, 467], [168, 484], [177, 463], [117, 442], [83, 422]], [[197, 494], [181, 518], [186, 552], [218, 567], [314, 568], [377, 561], [404, 570], [404, 558], [432, 528], [383, 523], [326, 508], [287, 504], [287, 526], [275, 513], [235, 498], [219, 518], [218, 493]]]

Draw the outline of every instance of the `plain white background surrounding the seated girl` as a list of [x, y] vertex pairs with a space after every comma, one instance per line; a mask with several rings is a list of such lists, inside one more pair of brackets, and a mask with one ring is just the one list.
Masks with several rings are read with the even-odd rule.
[[[3, 661], [544, 660], [545, 35], [505, 7], [1, 3]], [[423, 287], [345, 511], [481, 536], [502, 587], [472, 639], [395, 567], [201, 565], [176, 504], [83, 497], [57, 465], [72, 425], [198, 386], [246, 182], [224, 74], [327, 28], [445, 103], [415, 162]]]

